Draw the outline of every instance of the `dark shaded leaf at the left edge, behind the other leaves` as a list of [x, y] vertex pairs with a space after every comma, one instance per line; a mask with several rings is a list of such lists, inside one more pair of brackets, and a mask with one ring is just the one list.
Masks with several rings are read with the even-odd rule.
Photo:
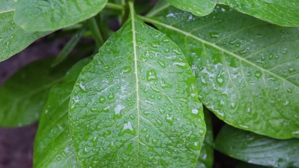
[[50, 61], [30, 63], [0, 86], [1, 127], [25, 126], [39, 119], [50, 87], [65, 72], [51, 73]]

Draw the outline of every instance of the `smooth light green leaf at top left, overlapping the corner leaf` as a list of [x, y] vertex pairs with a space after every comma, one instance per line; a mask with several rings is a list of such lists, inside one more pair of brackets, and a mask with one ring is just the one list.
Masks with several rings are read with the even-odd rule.
[[101, 11], [107, 0], [18, 0], [14, 20], [26, 31], [52, 31]]

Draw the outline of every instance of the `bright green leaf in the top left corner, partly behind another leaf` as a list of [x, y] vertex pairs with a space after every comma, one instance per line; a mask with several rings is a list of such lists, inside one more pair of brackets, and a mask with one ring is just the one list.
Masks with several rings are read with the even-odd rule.
[[0, 61], [28, 47], [49, 32], [25, 32], [13, 22], [14, 0], [0, 1]]

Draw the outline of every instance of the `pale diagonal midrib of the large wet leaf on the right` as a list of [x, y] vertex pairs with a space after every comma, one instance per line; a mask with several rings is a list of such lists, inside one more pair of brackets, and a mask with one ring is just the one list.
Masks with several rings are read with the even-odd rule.
[[238, 55], [236, 55], [236, 54], [234, 54], [234, 53], [232, 53], [232, 52], [230, 52], [230, 51], [228, 51], [228, 50], [226, 50], [226, 49], [224, 49], [224, 48], [221, 48], [220, 46], [217, 46], [217, 45], [215, 45], [215, 44], [213, 44], [213, 43], [210, 43], [209, 41], [206, 41], [206, 40], [204, 40], [204, 39], [202, 39], [202, 38], [199, 38], [199, 37], [197, 37], [197, 36], [195, 36], [195, 35], [193, 35], [193, 34], [191, 34], [191, 33], [189, 33], [189, 32], [186, 32], [186, 31], [181, 30], [181, 29], [179, 29], [179, 28], [173, 27], [173, 26], [171, 26], [171, 25], [166, 25], [166, 24], [164, 24], [164, 23], [161, 23], [161, 22], [159, 22], [159, 21], [150, 19], [150, 18], [148, 18], [148, 17], [143, 17], [143, 16], [139, 16], [139, 17], [140, 17], [141, 19], [143, 19], [144, 21], [147, 21], [147, 22], [150, 22], [150, 23], [153, 23], [153, 24], [158, 24], [158, 25], [163, 26], [163, 27], [165, 27], [165, 28], [169, 28], [169, 29], [172, 29], [172, 30], [174, 30], [174, 31], [177, 31], [177, 32], [179, 32], [179, 33], [181, 33], [181, 34], [184, 34], [185, 36], [191, 37], [191, 38], [193, 38], [193, 39], [195, 39], [195, 40], [197, 40], [197, 41], [199, 41], [199, 42], [201, 42], [201, 43], [204, 43], [204, 44], [209, 45], [209, 46], [211, 46], [211, 47], [213, 47], [213, 48], [215, 48], [215, 49], [218, 49], [218, 50], [220, 50], [220, 51], [222, 51], [222, 52], [224, 52], [224, 53], [227, 53], [227, 54], [229, 54], [229, 55], [231, 55], [231, 56], [234, 56], [235, 58], [237, 58], [237, 59], [239, 59], [239, 60], [241, 60], [241, 61], [243, 61], [243, 62], [246, 62], [246, 63], [248, 63], [248, 64], [250, 64], [250, 65], [252, 65], [252, 66], [254, 66], [254, 67], [256, 67], [256, 68], [258, 68], [258, 69], [260, 69], [260, 70], [262, 70], [262, 71], [264, 71], [264, 72], [267, 72], [267, 73], [269, 73], [270, 75], [273, 75], [274, 77], [276, 77], [276, 78], [278, 78], [278, 79], [280, 79], [280, 80], [282, 80], [282, 81], [286, 81], [286, 82], [288, 82], [289, 84], [294, 85], [295, 87], [299, 87], [299, 85], [294, 84], [293, 82], [291, 82], [291, 81], [289, 81], [289, 80], [287, 80], [287, 79], [285, 79], [285, 78], [283, 78], [283, 77], [281, 77], [281, 76], [279, 76], [279, 75], [277, 75], [277, 74], [274, 74], [273, 72], [271, 72], [271, 71], [269, 71], [269, 70], [267, 70], [267, 69], [264, 69], [263, 67], [260, 67], [260, 66], [258, 66], [258, 65], [256, 65], [256, 64], [254, 64], [253, 62], [248, 61], [247, 59], [245, 59], [245, 58], [243, 58], [243, 57], [241, 57], [241, 56], [238, 56]]

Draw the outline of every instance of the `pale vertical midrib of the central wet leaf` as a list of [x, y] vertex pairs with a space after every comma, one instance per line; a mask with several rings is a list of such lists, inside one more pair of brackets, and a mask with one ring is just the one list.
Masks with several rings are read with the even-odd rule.
[[138, 80], [138, 66], [137, 66], [137, 44], [136, 44], [136, 30], [135, 30], [135, 17], [134, 10], [131, 8], [131, 21], [132, 21], [132, 33], [133, 33], [133, 50], [134, 50], [134, 67], [136, 77], [136, 109], [137, 109], [137, 140], [138, 140], [138, 153], [139, 153], [139, 125], [140, 125], [140, 112], [139, 112], [139, 80]]

